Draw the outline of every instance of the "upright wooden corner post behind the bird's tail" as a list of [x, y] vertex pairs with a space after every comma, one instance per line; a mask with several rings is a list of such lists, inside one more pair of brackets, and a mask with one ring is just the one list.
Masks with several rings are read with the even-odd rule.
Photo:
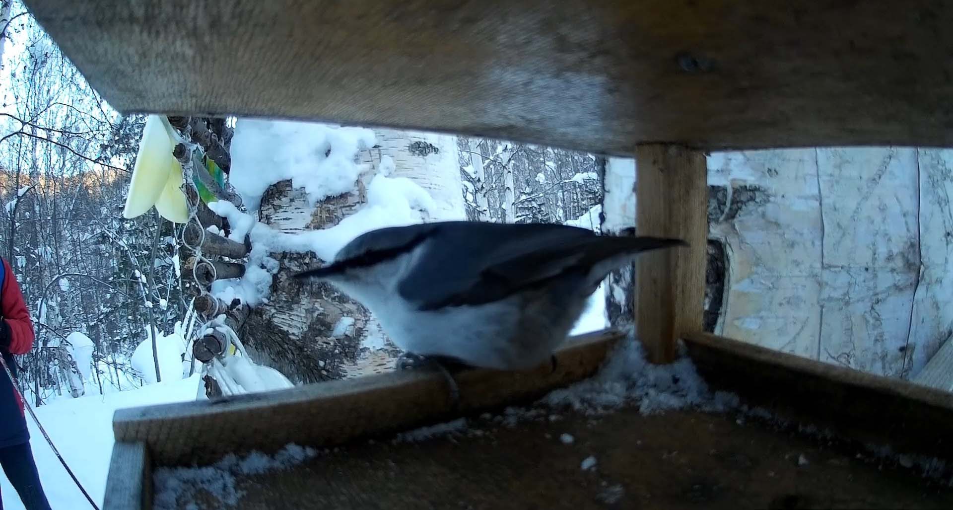
[[707, 197], [704, 153], [661, 144], [636, 149], [636, 234], [690, 245], [636, 260], [636, 331], [655, 363], [675, 359], [680, 335], [701, 331]]

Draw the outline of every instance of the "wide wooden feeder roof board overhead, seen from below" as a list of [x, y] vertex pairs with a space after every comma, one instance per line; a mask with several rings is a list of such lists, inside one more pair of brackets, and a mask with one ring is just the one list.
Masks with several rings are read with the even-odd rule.
[[596, 153], [953, 145], [943, 0], [25, 0], [122, 112]]

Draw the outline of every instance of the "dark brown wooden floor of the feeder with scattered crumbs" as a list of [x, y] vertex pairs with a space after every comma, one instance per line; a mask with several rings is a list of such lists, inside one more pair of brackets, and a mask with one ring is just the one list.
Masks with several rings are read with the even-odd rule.
[[[238, 477], [238, 508], [953, 508], [953, 487], [936, 479], [734, 415], [626, 408], [469, 423], [456, 435], [362, 441]], [[581, 469], [590, 456], [596, 467]], [[215, 507], [207, 493], [198, 500]]]

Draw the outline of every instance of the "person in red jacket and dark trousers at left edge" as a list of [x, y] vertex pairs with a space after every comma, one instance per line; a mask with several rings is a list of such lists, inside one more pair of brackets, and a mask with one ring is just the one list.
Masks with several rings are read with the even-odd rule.
[[[33, 348], [33, 324], [10, 264], [2, 258], [0, 263], [0, 279], [3, 281], [0, 284], [0, 355], [16, 377], [13, 355], [27, 354]], [[30, 450], [23, 400], [13, 384], [7, 371], [0, 370], [0, 466], [27, 510], [50, 510]], [[3, 510], [2, 495], [0, 510]]]

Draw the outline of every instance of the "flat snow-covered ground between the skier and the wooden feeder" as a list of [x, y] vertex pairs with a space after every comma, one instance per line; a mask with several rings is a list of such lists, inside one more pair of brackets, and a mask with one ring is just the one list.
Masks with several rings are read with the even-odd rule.
[[[116, 409], [168, 402], [194, 400], [201, 385], [198, 374], [187, 379], [163, 381], [136, 390], [105, 396], [87, 392], [81, 398], [61, 398], [35, 409], [37, 418], [50, 434], [56, 448], [73, 473], [102, 505], [106, 474], [112, 456], [112, 415]], [[83, 508], [88, 505], [70, 476], [63, 469], [32, 418], [30, 447], [40, 473], [43, 489], [52, 508]], [[23, 510], [10, 482], [0, 475], [0, 494], [6, 510]]]

